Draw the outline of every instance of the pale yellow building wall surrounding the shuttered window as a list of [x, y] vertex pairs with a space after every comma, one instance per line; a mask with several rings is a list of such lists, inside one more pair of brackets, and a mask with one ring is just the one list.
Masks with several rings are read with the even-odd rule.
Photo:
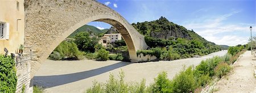
[[[19, 2], [19, 11], [16, 9]], [[18, 31], [17, 31], [17, 19]], [[0, 0], [0, 22], [10, 24], [9, 40], [0, 39], [0, 54], [4, 54], [3, 48], [10, 53], [15, 53], [20, 44], [24, 44], [24, 0]]]

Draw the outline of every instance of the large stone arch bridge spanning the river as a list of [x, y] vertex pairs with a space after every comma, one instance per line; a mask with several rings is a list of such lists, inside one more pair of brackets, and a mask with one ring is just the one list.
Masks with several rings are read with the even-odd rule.
[[127, 20], [97, 1], [25, 0], [25, 9], [24, 52], [31, 53], [31, 78], [61, 41], [89, 22], [105, 22], [117, 28], [132, 62], [138, 62], [137, 50], [148, 47], [144, 36]]

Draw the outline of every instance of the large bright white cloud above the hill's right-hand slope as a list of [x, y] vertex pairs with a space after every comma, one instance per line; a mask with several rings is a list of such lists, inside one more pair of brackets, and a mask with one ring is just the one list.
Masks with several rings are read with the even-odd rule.
[[206, 40], [218, 45], [234, 46], [238, 44], [246, 44], [250, 35], [249, 27], [253, 26], [253, 24], [224, 23], [230, 16], [239, 12], [241, 11], [233, 11], [229, 14], [213, 18], [203, 16], [199, 19], [193, 19], [185, 22], [184, 27], [193, 29], [193, 31], [204, 37]]

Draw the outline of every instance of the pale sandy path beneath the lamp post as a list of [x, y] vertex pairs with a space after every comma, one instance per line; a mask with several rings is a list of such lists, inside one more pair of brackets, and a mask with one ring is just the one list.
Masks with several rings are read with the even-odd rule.
[[217, 82], [216, 92], [256, 92], [256, 61], [251, 60], [250, 51], [242, 54], [240, 60], [233, 65], [232, 72]]

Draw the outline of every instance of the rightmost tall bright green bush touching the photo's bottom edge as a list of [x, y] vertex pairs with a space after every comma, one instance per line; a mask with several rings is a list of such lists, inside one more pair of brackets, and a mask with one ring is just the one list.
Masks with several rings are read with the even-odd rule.
[[196, 82], [192, 66], [177, 74], [172, 81], [172, 85], [174, 86], [173, 92], [193, 92], [196, 88]]

